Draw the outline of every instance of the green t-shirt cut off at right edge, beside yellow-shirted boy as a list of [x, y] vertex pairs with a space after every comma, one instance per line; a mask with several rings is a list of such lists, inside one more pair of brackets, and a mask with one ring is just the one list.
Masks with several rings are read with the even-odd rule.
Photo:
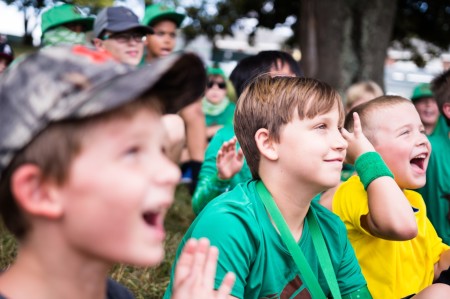
[[439, 130], [438, 134], [428, 137], [432, 151], [427, 168], [427, 183], [418, 191], [425, 200], [427, 216], [439, 237], [450, 245], [450, 129], [442, 126]]

